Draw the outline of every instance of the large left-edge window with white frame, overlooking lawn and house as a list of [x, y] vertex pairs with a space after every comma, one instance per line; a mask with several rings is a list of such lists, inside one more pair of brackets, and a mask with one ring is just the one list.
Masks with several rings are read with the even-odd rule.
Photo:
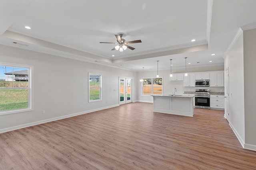
[[32, 66], [0, 63], [0, 115], [32, 110]]

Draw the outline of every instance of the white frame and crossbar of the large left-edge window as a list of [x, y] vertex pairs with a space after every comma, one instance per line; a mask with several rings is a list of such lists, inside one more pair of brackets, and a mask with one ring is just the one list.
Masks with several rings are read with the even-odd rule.
[[4, 110], [0, 111], [0, 115], [7, 115], [13, 113], [21, 113], [26, 111], [33, 111], [34, 110], [34, 66], [33, 65], [26, 65], [26, 64], [15, 64], [15, 63], [5, 63], [0, 62], [1, 66], [9, 66], [9, 67], [20, 67], [20, 68], [28, 68], [28, 88], [1, 88], [1, 89], [28, 89], [28, 107], [23, 109], [12, 109], [12, 110]]

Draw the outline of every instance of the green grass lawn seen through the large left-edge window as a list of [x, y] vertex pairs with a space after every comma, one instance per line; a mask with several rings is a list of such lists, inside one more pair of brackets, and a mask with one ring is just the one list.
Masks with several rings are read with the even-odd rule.
[[28, 108], [28, 90], [0, 90], [0, 111]]

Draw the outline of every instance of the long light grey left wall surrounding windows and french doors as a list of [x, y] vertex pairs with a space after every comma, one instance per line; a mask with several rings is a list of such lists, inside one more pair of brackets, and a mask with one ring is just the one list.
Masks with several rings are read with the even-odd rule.
[[[0, 115], [0, 132], [118, 106], [119, 76], [133, 78], [133, 101], [137, 100], [137, 73], [133, 71], [4, 45], [0, 45], [0, 61], [34, 66], [34, 111]], [[100, 102], [88, 103], [88, 72], [102, 74]]]

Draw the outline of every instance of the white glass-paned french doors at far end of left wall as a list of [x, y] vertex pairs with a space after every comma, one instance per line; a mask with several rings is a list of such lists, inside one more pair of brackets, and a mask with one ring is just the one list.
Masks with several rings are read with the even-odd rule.
[[119, 77], [119, 104], [132, 102], [132, 79]]

